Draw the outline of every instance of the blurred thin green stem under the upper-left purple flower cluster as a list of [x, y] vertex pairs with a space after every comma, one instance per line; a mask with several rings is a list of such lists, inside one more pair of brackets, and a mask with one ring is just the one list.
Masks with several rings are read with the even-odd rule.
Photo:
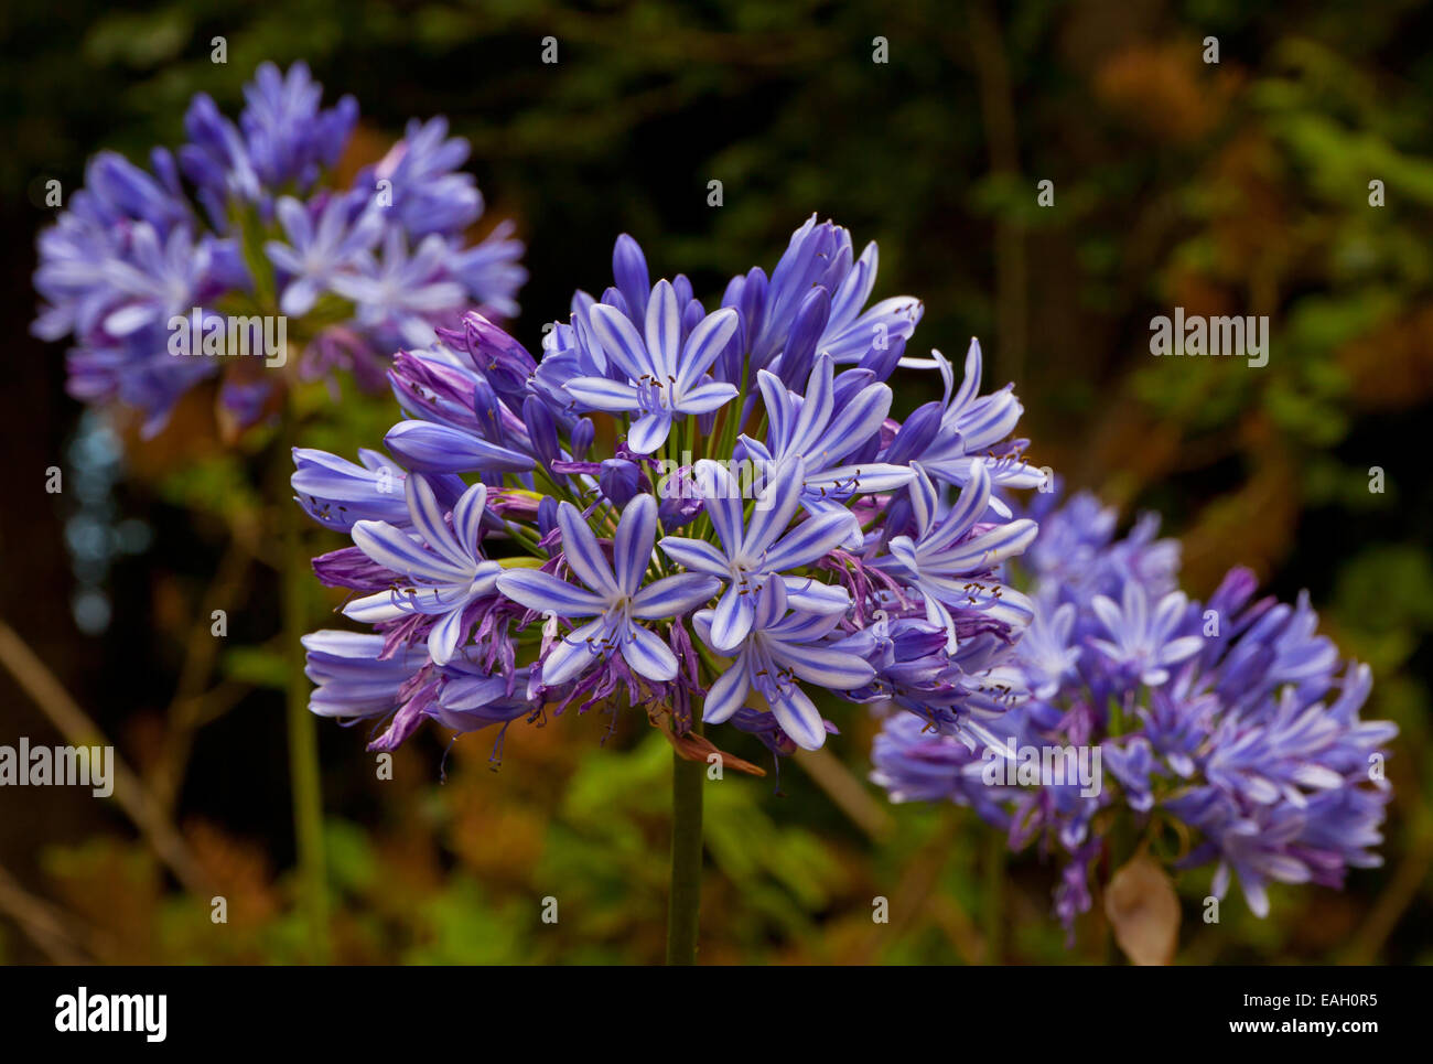
[[324, 873], [324, 802], [318, 771], [318, 721], [308, 711], [308, 678], [304, 675], [307, 632], [308, 554], [304, 551], [302, 513], [288, 498], [289, 453], [298, 436], [292, 407], [284, 413], [278, 472], [285, 490], [278, 493], [284, 526], [284, 648], [288, 657], [288, 773], [294, 793], [294, 836], [298, 849], [299, 905], [308, 925], [310, 961], [328, 961], [328, 888]]

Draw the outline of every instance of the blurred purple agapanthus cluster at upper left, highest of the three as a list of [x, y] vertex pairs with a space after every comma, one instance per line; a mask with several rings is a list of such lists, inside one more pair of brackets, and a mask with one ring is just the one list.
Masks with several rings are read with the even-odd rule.
[[[34, 334], [70, 338], [72, 396], [135, 407], [148, 433], [221, 367], [225, 414], [252, 422], [275, 383], [259, 370], [287, 361], [275, 341], [302, 347], [297, 369], [308, 379], [342, 367], [381, 386], [388, 356], [434, 341], [434, 326], [473, 305], [517, 311], [522, 244], [510, 224], [469, 244], [483, 196], [459, 171], [467, 142], [443, 118], [411, 122], [380, 162], [337, 186], [358, 118], [351, 96], [322, 108], [302, 63], [287, 73], [265, 63], [244, 95], [238, 123], [195, 96], [188, 142], [153, 149], [149, 169], [93, 156], [85, 186], [39, 238]], [[226, 346], [234, 323], [244, 343]], [[245, 351], [264, 358], [219, 357]]]

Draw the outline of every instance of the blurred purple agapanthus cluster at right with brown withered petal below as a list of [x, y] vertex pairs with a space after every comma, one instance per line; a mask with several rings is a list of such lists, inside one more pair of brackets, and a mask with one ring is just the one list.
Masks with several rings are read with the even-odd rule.
[[1347, 869], [1381, 863], [1397, 728], [1360, 720], [1369, 667], [1340, 660], [1308, 595], [1255, 598], [1237, 568], [1191, 601], [1155, 516], [1116, 538], [1115, 512], [1093, 496], [1056, 498], [1036, 496], [1040, 531], [1020, 559], [1033, 582], [1016, 648], [1027, 695], [986, 746], [888, 717], [873, 779], [894, 800], [969, 804], [1012, 849], [1058, 855], [1068, 926], [1092, 905], [1096, 859], [1108, 868], [1142, 842], [1175, 869], [1215, 863], [1219, 898], [1237, 876], [1260, 916], [1271, 880], [1337, 888]]

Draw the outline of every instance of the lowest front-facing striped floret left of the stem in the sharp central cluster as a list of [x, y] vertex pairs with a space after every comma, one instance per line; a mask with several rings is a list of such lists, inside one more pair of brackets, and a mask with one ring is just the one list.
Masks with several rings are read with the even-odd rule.
[[632, 670], [648, 680], [676, 678], [676, 655], [636, 621], [681, 617], [715, 595], [719, 581], [689, 572], [643, 586], [656, 538], [656, 500], [651, 495], [638, 495], [622, 510], [612, 543], [615, 566], [576, 506], [563, 502], [557, 508], [557, 526], [563, 561], [583, 588], [537, 569], [512, 569], [497, 579], [507, 598], [539, 614], [595, 618], [547, 651], [542, 661], [543, 687], [575, 680], [613, 651], [620, 651]]

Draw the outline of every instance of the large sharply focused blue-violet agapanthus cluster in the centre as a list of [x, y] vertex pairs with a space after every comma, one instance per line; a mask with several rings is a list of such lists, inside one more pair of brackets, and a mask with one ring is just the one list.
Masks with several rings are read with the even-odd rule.
[[[312, 710], [387, 721], [375, 749], [573, 706], [775, 753], [841, 701], [987, 734], [1032, 614], [1003, 574], [1036, 525], [1002, 493], [1042, 478], [979, 346], [959, 387], [907, 357], [921, 304], [870, 303], [876, 271], [811, 218], [708, 307], [623, 235], [540, 358], [476, 313], [400, 351], [387, 455], [295, 452], [298, 500], [353, 538], [315, 571], [371, 628], [308, 637]], [[940, 394], [904, 420], [900, 367]]]

